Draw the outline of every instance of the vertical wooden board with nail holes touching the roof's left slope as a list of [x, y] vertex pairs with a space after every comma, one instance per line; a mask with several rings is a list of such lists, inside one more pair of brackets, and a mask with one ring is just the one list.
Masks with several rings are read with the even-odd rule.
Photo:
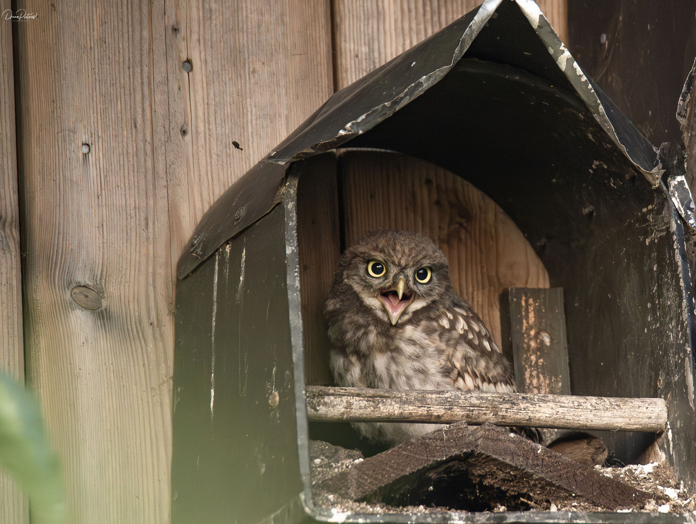
[[175, 264], [210, 205], [333, 93], [331, 19], [329, 0], [165, 3]]

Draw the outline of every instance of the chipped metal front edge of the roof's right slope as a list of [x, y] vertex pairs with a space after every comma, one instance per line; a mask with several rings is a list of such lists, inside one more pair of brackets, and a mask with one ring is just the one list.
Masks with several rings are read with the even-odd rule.
[[[555, 58], [555, 62], [558, 68], [563, 72], [565, 77], [570, 81], [571, 85], [574, 86], [576, 92], [583, 99], [587, 109], [590, 109], [592, 116], [595, 120], [599, 122], [599, 125], [605, 130], [605, 132], [610, 136], [612, 141], [622, 150], [626, 158], [631, 161], [631, 164], [635, 166], [640, 173], [652, 184], [654, 188], [657, 188], [660, 184], [660, 171], [659, 166], [652, 168], [651, 170], [645, 169], [640, 166], [637, 161], [631, 158], [628, 154], [626, 146], [619, 140], [617, 136], [616, 129], [612, 124], [610, 118], [607, 116], [604, 106], [599, 100], [599, 97], [592, 86], [592, 81], [587, 77], [585, 72], [580, 68], [580, 65], [575, 61], [575, 58], [571, 56], [568, 49], [565, 47], [564, 43], [558, 38], [558, 35], [548, 23], [548, 20], [541, 13], [539, 6], [532, 0], [514, 0], [522, 13], [527, 17], [532, 28], [537, 32], [539, 39], [544, 43], [544, 47], [548, 52]], [[568, 63], [568, 60], [571, 63]], [[572, 67], [569, 67], [571, 65]], [[573, 71], [571, 71], [573, 70]], [[584, 84], [583, 84], [584, 83]]]

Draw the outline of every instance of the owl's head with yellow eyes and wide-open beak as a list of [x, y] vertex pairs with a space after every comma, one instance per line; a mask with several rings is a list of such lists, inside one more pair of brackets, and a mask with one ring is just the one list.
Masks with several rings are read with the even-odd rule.
[[332, 299], [349, 285], [377, 317], [393, 326], [452, 292], [445, 255], [427, 238], [384, 230], [363, 237], [338, 262]]

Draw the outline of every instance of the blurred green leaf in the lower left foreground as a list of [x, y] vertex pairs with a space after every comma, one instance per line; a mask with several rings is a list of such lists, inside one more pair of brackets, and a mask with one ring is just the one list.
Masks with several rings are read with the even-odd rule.
[[4, 372], [0, 372], [0, 465], [29, 496], [32, 514], [49, 521], [63, 520], [63, 477], [38, 402]]

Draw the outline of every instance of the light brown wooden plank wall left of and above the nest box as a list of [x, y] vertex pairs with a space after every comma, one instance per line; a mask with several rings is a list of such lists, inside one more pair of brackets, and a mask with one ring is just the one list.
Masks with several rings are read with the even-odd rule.
[[[166, 523], [174, 269], [193, 228], [334, 86], [474, 4], [14, 4], [38, 16], [13, 24], [13, 51], [1, 21], [0, 326], [16, 335], [0, 358], [22, 375], [17, 221], [4, 218], [17, 215], [14, 56], [26, 376], [64, 464], [68, 522]], [[5, 493], [3, 522], [26, 522]]]

